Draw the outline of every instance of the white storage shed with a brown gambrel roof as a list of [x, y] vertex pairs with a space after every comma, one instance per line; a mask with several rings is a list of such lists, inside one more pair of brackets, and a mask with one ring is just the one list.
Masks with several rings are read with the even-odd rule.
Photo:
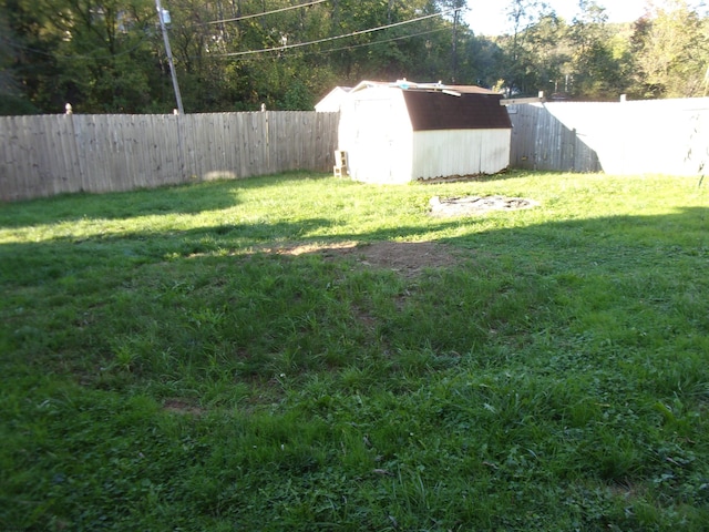
[[362, 81], [340, 108], [347, 171], [371, 183], [495, 174], [512, 136], [501, 100], [474, 85]]

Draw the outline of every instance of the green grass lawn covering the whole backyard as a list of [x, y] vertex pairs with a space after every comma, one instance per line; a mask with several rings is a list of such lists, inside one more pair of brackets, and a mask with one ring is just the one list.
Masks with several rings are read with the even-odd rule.
[[[0, 530], [708, 530], [698, 185], [288, 174], [0, 205]], [[541, 206], [427, 214], [466, 194]], [[342, 242], [456, 260], [274, 252]]]

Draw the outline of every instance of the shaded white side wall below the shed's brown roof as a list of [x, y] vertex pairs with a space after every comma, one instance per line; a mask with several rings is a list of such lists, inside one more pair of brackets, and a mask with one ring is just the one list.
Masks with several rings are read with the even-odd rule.
[[413, 134], [413, 180], [495, 174], [510, 165], [511, 130], [441, 130]]

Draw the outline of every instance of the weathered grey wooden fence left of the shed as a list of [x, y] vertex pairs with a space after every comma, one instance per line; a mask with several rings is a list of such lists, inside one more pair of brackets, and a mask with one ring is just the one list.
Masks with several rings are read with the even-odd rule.
[[0, 116], [0, 200], [328, 172], [338, 113]]

